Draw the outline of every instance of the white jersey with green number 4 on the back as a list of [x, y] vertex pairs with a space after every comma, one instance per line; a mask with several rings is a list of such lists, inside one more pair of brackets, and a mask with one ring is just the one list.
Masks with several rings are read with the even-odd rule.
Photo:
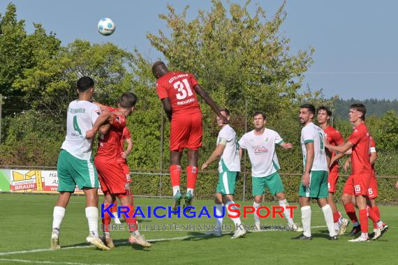
[[93, 128], [101, 114], [100, 108], [85, 100], [73, 100], [68, 106], [66, 138], [61, 149], [83, 160], [91, 158], [93, 138], [86, 139], [86, 131]]

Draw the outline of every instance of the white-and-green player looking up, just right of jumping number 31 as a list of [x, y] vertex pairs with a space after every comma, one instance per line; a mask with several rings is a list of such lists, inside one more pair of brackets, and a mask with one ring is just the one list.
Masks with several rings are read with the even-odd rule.
[[[228, 109], [220, 109], [222, 115], [230, 119], [230, 112]], [[230, 215], [235, 215], [231, 209], [237, 209], [233, 201], [235, 194], [235, 183], [240, 172], [240, 158], [239, 158], [239, 144], [237, 143], [237, 136], [235, 130], [228, 124], [223, 124], [223, 121], [217, 117], [217, 123], [221, 127], [219, 136], [217, 137], [217, 146], [213, 151], [212, 156], [202, 165], [202, 170], [206, 169], [210, 163], [220, 159], [219, 161], [219, 182], [216, 188], [216, 215], [223, 216], [223, 213], [228, 211]], [[223, 209], [225, 206], [226, 209]], [[235, 224], [236, 230], [231, 239], [243, 237], [246, 234], [246, 229], [242, 226], [240, 218], [231, 218]], [[221, 227], [223, 225], [223, 218], [216, 218], [216, 230], [207, 232], [212, 236], [221, 236]]]

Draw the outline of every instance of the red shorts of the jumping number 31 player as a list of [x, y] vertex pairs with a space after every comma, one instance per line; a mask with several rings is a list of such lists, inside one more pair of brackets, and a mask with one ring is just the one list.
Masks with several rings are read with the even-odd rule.
[[198, 150], [202, 146], [202, 112], [172, 116], [170, 125], [170, 151], [184, 148]]

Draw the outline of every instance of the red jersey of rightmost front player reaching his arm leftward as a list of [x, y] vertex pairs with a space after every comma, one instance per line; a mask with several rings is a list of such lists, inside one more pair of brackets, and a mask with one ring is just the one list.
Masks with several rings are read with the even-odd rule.
[[369, 131], [364, 123], [354, 128], [353, 133], [348, 137], [348, 142], [353, 144], [353, 153], [351, 154], [353, 174], [371, 174]]

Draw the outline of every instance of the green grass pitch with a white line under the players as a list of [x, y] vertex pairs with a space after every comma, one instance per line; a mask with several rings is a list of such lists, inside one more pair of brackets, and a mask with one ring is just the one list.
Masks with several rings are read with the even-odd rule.
[[[52, 209], [56, 196], [0, 194], [0, 264], [398, 264], [398, 207], [381, 206], [381, 218], [390, 230], [378, 241], [351, 243], [348, 236], [338, 241], [326, 239], [323, 213], [316, 204], [311, 206], [312, 241], [293, 241], [297, 232], [264, 231], [246, 234], [244, 239], [202, 236], [204, 232], [141, 231], [152, 248], [144, 250], [128, 245], [128, 232], [112, 232], [117, 248], [101, 251], [88, 247], [84, 216], [84, 197], [72, 197], [61, 225], [60, 243], [63, 249], [48, 250], [52, 226]], [[100, 197], [100, 202], [103, 198]], [[251, 205], [251, 202], [238, 202]], [[168, 206], [171, 199], [135, 198], [135, 205]], [[277, 205], [266, 203], [265, 205]], [[291, 204], [293, 205], [293, 204]], [[195, 201], [194, 206], [213, 206], [212, 201]], [[341, 205], [339, 209], [342, 210]], [[213, 225], [214, 218], [139, 219], [140, 225]], [[243, 220], [253, 224], [253, 216]], [[295, 221], [301, 222], [300, 209]], [[229, 218], [226, 225], [232, 224]], [[286, 225], [286, 220], [263, 219], [262, 225]], [[348, 227], [348, 232], [351, 230]], [[371, 224], [369, 222], [369, 230]]]

